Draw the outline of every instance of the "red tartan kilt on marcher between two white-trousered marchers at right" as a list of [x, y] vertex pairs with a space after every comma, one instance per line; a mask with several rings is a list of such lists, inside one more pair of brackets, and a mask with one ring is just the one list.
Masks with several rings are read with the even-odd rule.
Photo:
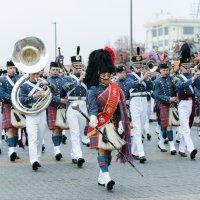
[[157, 102], [156, 108], [161, 128], [167, 128], [169, 126], [169, 105]]

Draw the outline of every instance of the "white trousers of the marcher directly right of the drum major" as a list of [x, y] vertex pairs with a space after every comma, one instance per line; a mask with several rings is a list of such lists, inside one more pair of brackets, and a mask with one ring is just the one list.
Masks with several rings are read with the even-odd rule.
[[130, 100], [130, 112], [133, 124], [131, 152], [133, 155], [141, 157], [145, 155], [142, 144], [142, 131], [147, 118], [147, 98], [133, 97]]

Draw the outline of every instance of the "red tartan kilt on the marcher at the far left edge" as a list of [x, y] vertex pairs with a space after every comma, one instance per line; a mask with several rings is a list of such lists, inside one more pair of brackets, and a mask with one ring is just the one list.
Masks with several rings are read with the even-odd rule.
[[2, 105], [2, 129], [14, 128], [11, 124], [11, 104]]

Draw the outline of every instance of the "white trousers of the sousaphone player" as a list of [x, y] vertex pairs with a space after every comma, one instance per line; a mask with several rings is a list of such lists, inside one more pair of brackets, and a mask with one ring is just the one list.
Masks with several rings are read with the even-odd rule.
[[46, 123], [46, 110], [37, 115], [26, 115], [29, 158], [31, 164], [40, 161]]

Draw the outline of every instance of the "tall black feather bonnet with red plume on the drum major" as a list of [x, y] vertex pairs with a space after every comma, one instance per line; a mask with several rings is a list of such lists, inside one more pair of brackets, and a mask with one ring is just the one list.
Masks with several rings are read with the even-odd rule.
[[106, 47], [105, 49], [94, 50], [89, 55], [86, 69], [85, 82], [88, 87], [99, 85], [99, 74], [115, 72], [115, 53]]

